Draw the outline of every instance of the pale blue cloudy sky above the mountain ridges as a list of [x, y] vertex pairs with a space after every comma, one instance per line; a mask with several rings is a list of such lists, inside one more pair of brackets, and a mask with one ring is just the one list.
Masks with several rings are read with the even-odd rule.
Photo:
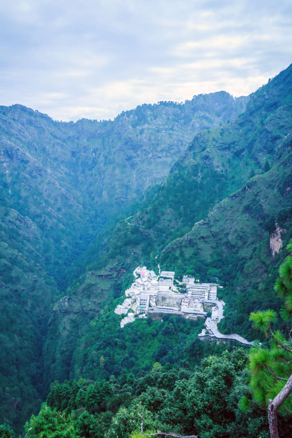
[[114, 119], [248, 95], [292, 63], [291, 0], [2, 0], [0, 105]]

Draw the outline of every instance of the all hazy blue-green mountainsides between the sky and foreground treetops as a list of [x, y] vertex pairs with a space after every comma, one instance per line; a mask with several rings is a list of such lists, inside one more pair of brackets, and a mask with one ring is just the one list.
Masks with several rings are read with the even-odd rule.
[[156, 350], [152, 334], [123, 338], [113, 301], [139, 264], [218, 278], [222, 331], [237, 311], [237, 331], [254, 338], [248, 315], [279, 309], [273, 283], [291, 237], [291, 108], [292, 66], [248, 97], [142, 105], [114, 121], [0, 107], [0, 423], [21, 431], [55, 379], [197, 363], [200, 348], [178, 347], [198, 326], [176, 342], [157, 332]]

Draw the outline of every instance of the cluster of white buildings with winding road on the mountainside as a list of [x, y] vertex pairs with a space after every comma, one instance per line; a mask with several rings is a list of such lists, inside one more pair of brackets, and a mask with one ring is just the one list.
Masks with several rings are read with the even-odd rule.
[[[224, 301], [218, 300], [216, 283], [199, 283], [190, 276], [182, 277], [182, 282], [174, 279], [175, 272], [161, 271], [156, 275], [146, 266], [138, 266], [133, 275], [134, 283], [125, 291], [126, 299], [118, 305], [115, 313], [125, 315], [120, 326], [134, 322], [135, 318], [162, 319], [163, 314], [175, 314], [187, 319], [211, 316], [205, 320], [206, 329], [199, 338], [234, 340], [243, 345], [251, 345], [236, 333], [222, 334], [217, 323], [223, 318]], [[174, 282], [176, 284], [174, 284]], [[185, 293], [186, 291], [186, 293]]]

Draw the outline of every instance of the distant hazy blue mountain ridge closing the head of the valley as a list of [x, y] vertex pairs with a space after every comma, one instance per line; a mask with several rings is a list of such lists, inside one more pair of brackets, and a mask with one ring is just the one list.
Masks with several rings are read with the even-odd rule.
[[76, 123], [0, 107], [1, 205], [39, 228], [38, 261], [62, 288], [64, 265], [96, 230], [161, 181], [198, 131], [236, 118], [247, 101], [218, 92]]

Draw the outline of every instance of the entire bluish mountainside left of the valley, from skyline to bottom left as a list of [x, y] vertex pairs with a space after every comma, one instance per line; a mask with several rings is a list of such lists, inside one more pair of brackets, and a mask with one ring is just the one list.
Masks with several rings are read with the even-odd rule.
[[[83, 272], [78, 257], [106, 224], [151, 198], [197, 132], [235, 119], [248, 100], [218, 92], [76, 123], [0, 107], [0, 423], [20, 432], [39, 409], [55, 360], [49, 341], [43, 349], [48, 320], [53, 303], [66, 309], [68, 280]], [[71, 359], [62, 360], [66, 376]]]

